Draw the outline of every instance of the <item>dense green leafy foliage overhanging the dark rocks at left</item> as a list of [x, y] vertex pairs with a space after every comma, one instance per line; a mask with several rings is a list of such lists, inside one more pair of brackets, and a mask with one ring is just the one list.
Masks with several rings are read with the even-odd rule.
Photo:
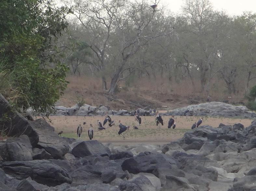
[[65, 16], [71, 11], [46, 0], [2, 0], [0, 12], [1, 81], [8, 77], [1, 92], [9, 84], [17, 91], [16, 106], [45, 112], [67, 86], [68, 68], [54, 57], [53, 41], [67, 27]]

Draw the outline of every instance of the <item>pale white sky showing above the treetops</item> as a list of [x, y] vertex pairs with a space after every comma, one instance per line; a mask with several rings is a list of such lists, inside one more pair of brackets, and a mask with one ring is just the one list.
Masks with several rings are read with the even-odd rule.
[[[242, 15], [244, 11], [256, 13], [256, 0], [209, 0], [213, 9], [226, 11], [230, 16]], [[183, 0], [160, 0], [160, 4], [168, 4], [168, 8], [174, 13], [181, 12]]]

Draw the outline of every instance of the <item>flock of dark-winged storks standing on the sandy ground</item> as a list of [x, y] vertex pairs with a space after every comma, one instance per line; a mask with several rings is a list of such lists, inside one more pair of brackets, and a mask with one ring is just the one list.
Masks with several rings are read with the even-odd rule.
[[[152, 109], [149, 110], [150, 113], [152, 113]], [[185, 116], [187, 116], [187, 113], [189, 112], [189, 109], [187, 109], [185, 111]], [[164, 125], [164, 122], [163, 122], [163, 119], [162, 117], [160, 116], [159, 114], [159, 111], [155, 111], [154, 109], [154, 117], [155, 117], [155, 120], [156, 120], [156, 126], [158, 126], [159, 124], [161, 124], [162, 126]], [[170, 129], [172, 127], [172, 129], [175, 129], [176, 127], [176, 122], [175, 122], [175, 117], [172, 115], [171, 118], [169, 119], [168, 121], [168, 129]], [[140, 126], [141, 124], [141, 117], [139, 116], [139, 110], [135, 111], [135, 114], [134, 114], [134, 120], [138, 122], [138, 127]], [[191, 129], [194, 129], [196, 127], [198, 127], [199, 125], [201, 125], [203, 121], [203, 118], [199, 119], [199, 121], [196, 123], [194, 123], [191, 127]], [[99, 130], [103, 130], [103, 129], [106, 129], [105, 128], [105, 125], [107, 124], [108, 122], [108, 126], [109, 127], [112, 127], [113, 125], [115, 125], [115, 120], [112, 120], [110, 118], [110, 116], [108, 115], [108, 113], [106, 114], [106, 118], [104, 119], [103, 121], [103, 125], [102, 123], [100, 122], [100, 120], [97, 120], [97, 123], [98, 123], [98, 129]], [[85, 125], [86, 122], [83, 123], [83, 125]], [[133, 126], [133, 129], [139, 129], [137, 126]], [[90, 140], [93, 139], [93, 126], [92, 124], [90, 124], [90, 128], [88, 130], [88, 137]], [[119, 120], [119, 131], [118, 131], [118, 135], [122, 135], [123, 138], [125, 139], [125, 136], [122, 134], [123, 132], [125, 131], [128, 131], [130, 128], [130, 126], [125, 126], [121, 123], [121, 121]], [[160, 128], [160, 125], [158, 126], [158, 128]], [[79, 124], [79, 126], [77, 127], [77, 136], [78, 138], [81, 137], [81, 134], [82, 134], [82, 131], [83, 131], [83, 128], [81, 126], [81, 124]], [[59, 132], [58, 135], [61, 135], [63, 133], [63, 131]]]

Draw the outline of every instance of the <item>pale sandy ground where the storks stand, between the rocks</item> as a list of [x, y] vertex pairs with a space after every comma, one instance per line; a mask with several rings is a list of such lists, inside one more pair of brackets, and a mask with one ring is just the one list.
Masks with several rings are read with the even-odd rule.
[[[94, 136], [93, 140], [98, 140], [99, 142], [112, 142], [115, 144], [138, 144], [138, 143], [146, 143], [146, 144], [166, 144], [172, 140], [177, 140], [182, 138], [184, 133], [187, 130], [191, 129], [193, 123], [197, 122], [200, 117], [183, 117], [176, 116], [176, 128], [168, 129], [168, 121], [169, 116], [162, 116], [164, 121], [164, 126], [156, 126], [155, 118], [153, 116], [150, 117], [141, 117], [141, 125], [138, 126], [138, 122], [134, 120], [134, 117], [124, 117], [124, 116], [110, 116], [112, 120], [116, 121], [116, 125], [113, 127], [108, 127], [106, 125], [105, 130], [98, 130], [97, 119], [101, 121], [103, 124], [103, 120], [105, 117], [96, 116], [96, 117], [77, 117], [77, 116], [50, 116], [49, 120], [51, 121], [50, 125], [55, 128], [55, 131], [58, 133], [63, 131], [61, 136], [77, 138], [77, 127], [79, 124], [83, 127], [82, 136], [80, 139], [89, 140], [88, 138], [88, 129], [90, 124], [93, 125]], [[130, 126], [129, 131], [124, 132], [125, 140], [122, 135], [118, 135], [119, 127], [118, 121], [121, 120], [121, 123], [126, 126]], [[252, 119], [239, 119], [239, 118], [203, 118], [203, 122], [201, 125], [210, 125], [212, 127], [218, 127], [220, 123], [225, 125], [234, 125], [235, 123], [241, 123], [244, 127], [248, 127]], [[83, 122], [86, 122], [83, 125]], [[133, 125], [137, 126], [139, 129], [133, 129]], [[161, 129], [159, 129], [159, 127]]]

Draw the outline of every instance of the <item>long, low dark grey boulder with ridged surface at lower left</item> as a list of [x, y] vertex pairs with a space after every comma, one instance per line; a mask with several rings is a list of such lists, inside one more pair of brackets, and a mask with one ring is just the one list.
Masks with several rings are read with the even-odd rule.
[[66, 170], [46, 160], [4, 162], [0, 167], [18, 180], [31, 177], [37, 183], [47, 186], [72, 183]]

